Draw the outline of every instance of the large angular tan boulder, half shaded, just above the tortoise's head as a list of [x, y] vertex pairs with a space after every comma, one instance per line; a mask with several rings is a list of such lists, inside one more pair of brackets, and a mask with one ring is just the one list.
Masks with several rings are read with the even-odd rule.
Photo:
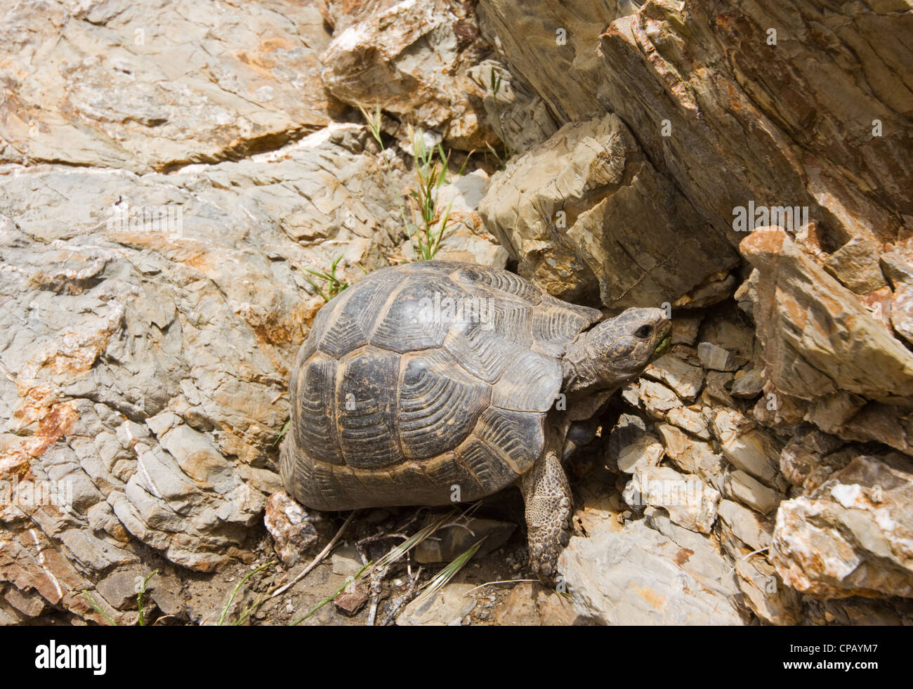
[[561, 298], [658, 306], [734, 265], [717, 235], [682, 237], [698, 218], [613, 114], [567, 124], [511, 160], [479, 214], [519, 273]]

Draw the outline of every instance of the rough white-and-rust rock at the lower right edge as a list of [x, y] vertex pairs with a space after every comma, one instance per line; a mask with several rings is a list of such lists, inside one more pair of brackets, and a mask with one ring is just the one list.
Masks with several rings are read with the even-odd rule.
[[811, 496], [777, 512], [771, 561], [784, 582], [813, 596], [913, 597], [909, 463], [858, 455]]

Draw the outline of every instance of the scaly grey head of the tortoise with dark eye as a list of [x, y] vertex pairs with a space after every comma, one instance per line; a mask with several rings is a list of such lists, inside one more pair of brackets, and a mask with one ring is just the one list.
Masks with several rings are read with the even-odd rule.
[[634, 380], [671, 342], [672, 323], [662, 308], [628, 308], [586, 334], [593, 372], [606, 387]]

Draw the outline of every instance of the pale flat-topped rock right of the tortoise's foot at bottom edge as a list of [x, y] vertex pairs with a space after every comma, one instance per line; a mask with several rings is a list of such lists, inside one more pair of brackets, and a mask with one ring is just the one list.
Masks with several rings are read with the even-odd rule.
[[582, 618], [611, 625], [742, 624], [729, 564], [705, 538], [672, 528], [667, 537], [635, 521], [619, 533], [571, 538], [559, 569]]

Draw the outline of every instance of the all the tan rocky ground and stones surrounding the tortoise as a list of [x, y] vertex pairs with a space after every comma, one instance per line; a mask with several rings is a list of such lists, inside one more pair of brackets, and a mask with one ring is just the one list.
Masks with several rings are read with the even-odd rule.
[[[283, 564], [264, 525], [284, 393], [309, 271], [415, 257], [411, 128], [452, 151], [438, 257], [666, 308], [673, 348], [572, 458], [566, 591], [477, 588], [532, 579], [506, 491], [304, 623], [913, 621], [906, 0], [0, 14], [0, 623], [135, 624], [152, 571], [147, 621], [232, 623], [332, 538]], [[359, 513], [244, 623], [434, 514]], [[488, 551], [409, 602], [464, 531]]]

